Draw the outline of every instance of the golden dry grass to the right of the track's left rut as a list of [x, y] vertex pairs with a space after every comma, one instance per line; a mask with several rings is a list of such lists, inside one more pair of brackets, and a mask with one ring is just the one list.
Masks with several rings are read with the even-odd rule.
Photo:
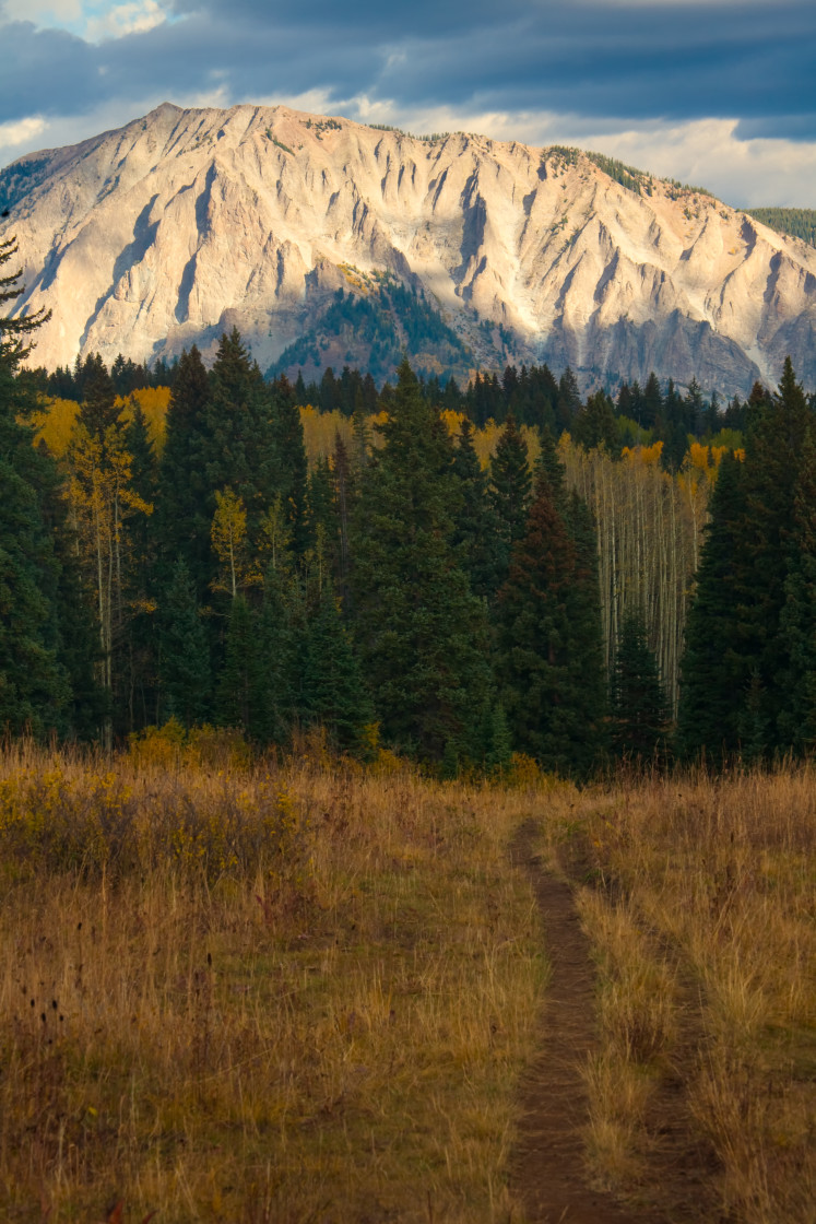
[[717, 1201], [700, 1218], [812, 1220], [816, 776], [624, 781], [553, 803], [551, 853], [584, 859], [599, 965], [596, 1177], [636, 1189], [647, 1106], [679, 1075], [713, 1152]]

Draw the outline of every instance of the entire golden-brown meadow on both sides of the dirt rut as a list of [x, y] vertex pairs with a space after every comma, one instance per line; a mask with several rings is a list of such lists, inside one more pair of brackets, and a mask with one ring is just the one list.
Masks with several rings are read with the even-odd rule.
[[531, 818], [593, 947], [587, 1181], [812, 1219], [809, 770], [438, 782], [217, 732], [0, 756], [0, 1215], [522, 1222]]

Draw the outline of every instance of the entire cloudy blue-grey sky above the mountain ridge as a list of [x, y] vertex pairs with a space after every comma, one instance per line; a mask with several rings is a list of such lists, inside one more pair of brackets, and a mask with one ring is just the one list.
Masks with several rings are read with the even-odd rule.
[[814, 0], [0, 0], [0, 166], [160, 102], [580, 144], [816, 207]]

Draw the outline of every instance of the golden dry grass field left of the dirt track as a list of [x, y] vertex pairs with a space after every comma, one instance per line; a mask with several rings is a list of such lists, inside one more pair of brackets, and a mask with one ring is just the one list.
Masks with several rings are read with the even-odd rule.
[[520, 1218], [529, 809], [406, 770], [6, 754], [0, 1215]]

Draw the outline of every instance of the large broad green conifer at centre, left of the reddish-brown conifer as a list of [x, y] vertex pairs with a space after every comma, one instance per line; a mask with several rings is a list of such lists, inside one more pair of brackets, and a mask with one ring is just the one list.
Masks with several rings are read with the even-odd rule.
[[472, 750], [489, 684], [482, 603], [456, 563], [453, 447], [407, 361], [355, 517], [365, 674], [388, 739], [422, 759]]

